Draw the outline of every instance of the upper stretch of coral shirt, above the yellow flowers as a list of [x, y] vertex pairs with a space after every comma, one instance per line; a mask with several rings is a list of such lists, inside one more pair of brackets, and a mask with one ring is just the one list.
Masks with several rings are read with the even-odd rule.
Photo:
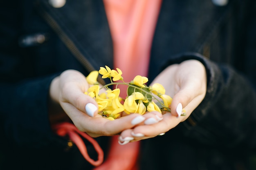
[[[147, 77], [150, 49], [162, 0], [103, 2], [113, 40], [114, 67], [121, 69], [126, 82], [136, 75]], [[121, 94], [121, 97], [124, 96]]]

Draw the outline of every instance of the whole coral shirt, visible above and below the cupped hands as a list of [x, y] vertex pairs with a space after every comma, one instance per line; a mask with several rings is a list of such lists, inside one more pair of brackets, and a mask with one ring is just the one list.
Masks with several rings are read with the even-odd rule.
[[[136, 75], [146, 76], [150, 49], [162, 0], [103, 0], [113, 40], [114, 67], [125, 82]], [[115, 69], [111, 68], [111, 69]], [[125, 86], [120, 96], [126, 96]], [[108, 158], [95, 170], [136, 170], [139, 141], [124, 146], [112, 137]]]

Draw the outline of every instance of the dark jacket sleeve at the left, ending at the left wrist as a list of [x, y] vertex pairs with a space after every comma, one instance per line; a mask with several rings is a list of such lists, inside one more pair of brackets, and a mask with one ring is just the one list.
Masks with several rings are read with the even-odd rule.
[[30, 147], [49, 144], [53, 133], [47, 101], [53, 77], [0, 84], [0, 120], [5, 140]]

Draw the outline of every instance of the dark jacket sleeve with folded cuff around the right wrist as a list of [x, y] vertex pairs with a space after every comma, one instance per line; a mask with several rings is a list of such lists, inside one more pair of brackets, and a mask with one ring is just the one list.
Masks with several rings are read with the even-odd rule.
[[186, 53], [175, 63], [199, 60], [207, 70], [207, 93], [180, 129], [202, 144], [256, 146], [256, 93], [246, 75], [229, 65], [217, 64], [198, 53]]

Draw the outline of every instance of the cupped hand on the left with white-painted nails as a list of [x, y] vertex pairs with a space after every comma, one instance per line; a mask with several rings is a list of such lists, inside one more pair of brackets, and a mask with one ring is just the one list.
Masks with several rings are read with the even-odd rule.
[[[87, 132], [91, 137], [116, 135], [123, 130], [141, 124], [150, 117], [155, 118], [154, 122], [162, 119], [162, 115], [159, 113], [151, 113], [146, 116], [130, 114], [114, 121], [103, 118], [98, 114], [96, 101], [84, 94], [88, 88], [89, 84], [83, 74], [78, 71], [67, 70], [52, 81], [50, 98], [55, 103], [60, 104], [79, 130]], [[154, 118], [148, 119], [146, 123], [152, 123], [150, 120], [153, 121]]]

